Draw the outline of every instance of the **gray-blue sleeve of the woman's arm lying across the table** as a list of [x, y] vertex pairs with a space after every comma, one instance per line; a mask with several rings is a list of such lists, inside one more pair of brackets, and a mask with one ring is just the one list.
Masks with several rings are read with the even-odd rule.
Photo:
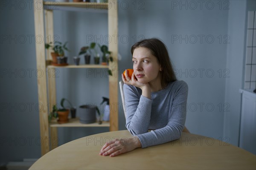
[[167, 125], [163, 128], [137, 135], [143, 148], [180, 138], [186, 121], [186, 102], [188, 96], [188, 85], [186, 82], [181, 82], [174, 93]]

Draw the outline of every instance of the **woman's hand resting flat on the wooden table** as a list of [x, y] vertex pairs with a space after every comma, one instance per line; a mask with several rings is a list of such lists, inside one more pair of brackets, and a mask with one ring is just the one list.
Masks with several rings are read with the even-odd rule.
[[115, 139], [111, 142], [104, 144], [102, 149], [100, 150], [99, 155], [102, 156], [117, 156], [121, 153], [130, 152], [137, 147], [141, 147], [140, 140], [137, 136], [133, 138], [122, 138], [122, 139]]

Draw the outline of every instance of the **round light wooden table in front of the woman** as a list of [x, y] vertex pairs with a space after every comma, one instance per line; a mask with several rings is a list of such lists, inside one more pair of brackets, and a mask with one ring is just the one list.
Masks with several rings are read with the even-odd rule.
[[182, 133], [180, 139], [137, 148], [116, 157], [100, 156], [105, 142], [133, 137], [128, 130], [99, 133], [63, 144], [42, 156], [30, 170], [143, 169], [255, 170], [256, 156], [217, 139]]

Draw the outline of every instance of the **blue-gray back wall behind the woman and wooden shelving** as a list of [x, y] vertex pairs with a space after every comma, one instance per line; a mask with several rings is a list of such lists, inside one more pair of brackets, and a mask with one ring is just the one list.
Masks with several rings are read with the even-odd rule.
[[[188, 4], [187, 9], [180, 6], [180, 1], [119, 1], [119, 80], [123, 69], [132, 68], [131, 45], [141, 38], [160, 38], [169, 50], [177, 78], [189, 85], [186, 126], [191, 133], [221, 140], [226, 137], [225, 142], [228, 139], [237, 145], [241, 105], [238, 90], [244, 69], [246, 11], [251, 1], [221, 1], [221, 6], [218, 1], [206, 1], [196, 7], [190, 1], [182, 2]], [[21, 5], [1, 6], [0, 11], [2, 164], [41, 156], [34, 13], [28, 3], [26, 8]], [[97, 42], [107, 44], [100, 38], [108, 34], [106, 14], [58, 10], [54, 19], [55, 35], [62, 42], [68, 41], [71, 49], [66, 53], [70, 63], [86, 45], [86, 37], [96, 36]], [[58, 102], [66, 97], [76, 107], [88, 102], [99, 105], [102, 96], [108, 97], [108, 78], [104, 74], [87, 75], [88, 69], [58, 71]], [[119, 107], [119, 130], [124, 129], [125, 117]], [[108, 128], [59, 128], [59, 143], [105, 131]]]

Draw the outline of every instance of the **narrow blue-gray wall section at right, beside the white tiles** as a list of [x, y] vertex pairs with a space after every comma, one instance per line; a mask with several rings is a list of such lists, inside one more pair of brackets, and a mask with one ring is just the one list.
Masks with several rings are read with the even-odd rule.
[[253, 0], [230, 2], [232, 8], [229, 11], [228, 34], [232, 37], [232, 43], [227, 46], [227, 69], [230, 70], [230, 78], [226, 79], [225, 87], [225, 103], [230, 104], [230, 112], [224, 113], [224, 136], [229, 137], [231, 144], [238, 146], [241, 119], [239, 89], [243, 88], [244, 81], [247, 14], [248, 11], [256, 10], [256, 2]]

